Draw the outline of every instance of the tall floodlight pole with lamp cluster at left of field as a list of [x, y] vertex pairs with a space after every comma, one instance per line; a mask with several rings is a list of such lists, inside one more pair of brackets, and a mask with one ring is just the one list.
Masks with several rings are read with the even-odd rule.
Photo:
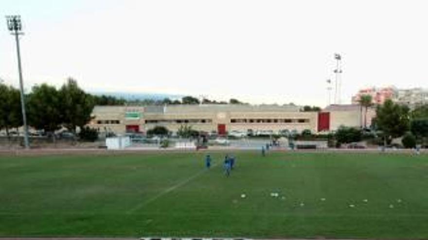
[[7, 20], [7, 28], [9, 29], [12, 35], [15, 35], [15, 40], [17, 42], [19, 88], [21, 93], [22, 121], [24, 123], [24, 144], [25, 144], [25, 149], [29, 149], [30, 144], [28, 142], [27, 115], [25, 114], [24, 82], [22, 80], [21, 54], [19, 51], [19, 35], [24, 34], [23, 32], [21, 32], [22, 30], [21, 16], [19, 15], [6, 16], [6, 20]]

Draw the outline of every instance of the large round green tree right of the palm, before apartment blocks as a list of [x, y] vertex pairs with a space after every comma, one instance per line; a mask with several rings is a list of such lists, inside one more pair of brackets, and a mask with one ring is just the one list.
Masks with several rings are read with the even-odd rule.
[[400, 137], [409, 130], [409, 108], [388, 99], [383, 105], [377, 106], [375, 125], [378, 130], [382, 131], [386, 144], [387, 138]]

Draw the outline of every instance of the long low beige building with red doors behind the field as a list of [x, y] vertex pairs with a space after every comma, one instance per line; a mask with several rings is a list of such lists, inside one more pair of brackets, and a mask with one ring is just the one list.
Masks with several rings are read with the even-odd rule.
[[[367, 126], [374, 117], [367, 113]], [[358, 105], [331, 105], [321, 112], [302, 112], [294, 105], [167, 105], [96, 106], [89, 127], [116, 134], [146, 132], [164, 126], [177, 132], [183, 125], [219, 135], [231, 131], [278, 133], [282, 130], [328, 132], [339, 126], [364, 126], [364, 110]]]

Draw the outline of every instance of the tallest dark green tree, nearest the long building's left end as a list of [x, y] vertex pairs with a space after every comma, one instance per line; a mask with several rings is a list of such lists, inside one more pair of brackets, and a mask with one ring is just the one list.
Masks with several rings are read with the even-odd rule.
[[76, 132], [76, 127], [82, 129], [91, 119], [95, 105], [93, 97], [80, 89], [71, 78], [59, 90], [59, 97], [64, 126], [73, 133]]

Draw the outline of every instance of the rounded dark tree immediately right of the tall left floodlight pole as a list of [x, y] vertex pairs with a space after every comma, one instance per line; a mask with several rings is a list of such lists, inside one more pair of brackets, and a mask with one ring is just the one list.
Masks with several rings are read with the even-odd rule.
[[53, 133], [61, 127], [61, 97], [55, 87], [43, 83], [33, 87], [28, 99], [29, 125]]

